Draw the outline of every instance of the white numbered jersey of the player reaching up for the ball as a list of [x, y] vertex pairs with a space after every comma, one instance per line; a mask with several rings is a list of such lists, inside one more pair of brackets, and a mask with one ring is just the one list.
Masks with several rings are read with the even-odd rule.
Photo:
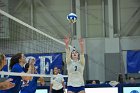
[[80, 87], [84, 86], [83, 71], [84, 65], [80, 61], [70, 60], [67, 63], [68, 84], [67, 86]]

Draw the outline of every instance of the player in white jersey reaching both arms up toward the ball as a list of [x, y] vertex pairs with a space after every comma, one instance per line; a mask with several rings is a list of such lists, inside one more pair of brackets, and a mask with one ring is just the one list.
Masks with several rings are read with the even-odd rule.
[[70, 52], [68, 47], [70, 39], [69, 37], [64, 39], [66, 44], [66, 64], [68, 70], [68, 93], [85, 93], [85, 85], [83, 79], [83, 72], [85, 67], [84, 58], [84, 42], [83, 39], [79, 39], [80, 54], [78, 51], [73, 50]]

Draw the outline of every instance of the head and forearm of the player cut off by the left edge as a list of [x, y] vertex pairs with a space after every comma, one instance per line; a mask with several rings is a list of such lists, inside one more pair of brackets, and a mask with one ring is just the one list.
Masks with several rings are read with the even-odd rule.
[[[0, 71], [5, 65], [6, 65], [6, 57], [4, 54], [0, 54]], [[13, 84], [11, 81], [12, 79], [8, 79], [3, 82], [0, 82], [0, 90], [6, 90], [6, 89], [14, 87], [15, 84]]]

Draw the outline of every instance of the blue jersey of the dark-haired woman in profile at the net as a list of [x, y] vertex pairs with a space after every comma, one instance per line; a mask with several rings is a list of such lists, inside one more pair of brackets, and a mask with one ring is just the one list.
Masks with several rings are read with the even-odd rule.
[[[17, 73], [21, 73], [24, 72], [23, 68], [21, 67], [21, 65], [19, 65], [19, 63], [16, 63], [13, 68], [11, 69], [11, 72], [17, 72]], [[19, 93], [20, 89], [21, 89], [21, 76], [9, 76], [9, 78], [13, 79], [13, 83], [15, 83], [15, 86], [11, 89], [8, 90], [4, 90], [4, 92], [2, 93]]]

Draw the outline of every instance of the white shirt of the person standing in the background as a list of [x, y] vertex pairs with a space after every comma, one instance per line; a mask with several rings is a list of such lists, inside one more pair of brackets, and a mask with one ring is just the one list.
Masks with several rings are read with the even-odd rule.
[[63, 88], [62, 82], [64, 82], [64, 78], [61, 74], [53, 75], [51, 77], [51, 84], [53, 84], [52, 89], [59, 90]]

